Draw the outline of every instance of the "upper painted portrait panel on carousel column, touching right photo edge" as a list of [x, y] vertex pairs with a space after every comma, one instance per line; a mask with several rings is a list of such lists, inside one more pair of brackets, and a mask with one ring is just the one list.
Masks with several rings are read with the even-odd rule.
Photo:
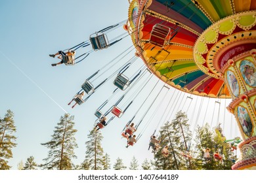
[[255, 65], [249, 61], [244, 59], [240, 63], [240, 72], [244, 78], [244, 81], [249, 86], [255, 88], [256, 87], [256, 67]]

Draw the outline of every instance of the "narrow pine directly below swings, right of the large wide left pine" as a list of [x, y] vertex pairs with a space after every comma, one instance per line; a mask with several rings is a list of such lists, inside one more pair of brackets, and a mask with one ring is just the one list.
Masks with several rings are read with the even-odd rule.
[[103, 139], [99, 130], [93, 129], [88, 135], [89, 141], [85, 142], [87, 150], [85, 152], [85, 161], [82, 163], [82, 167], [89, 166], [89, 169], [102, 170], [103, 164], [103, 148], [101, 141]]

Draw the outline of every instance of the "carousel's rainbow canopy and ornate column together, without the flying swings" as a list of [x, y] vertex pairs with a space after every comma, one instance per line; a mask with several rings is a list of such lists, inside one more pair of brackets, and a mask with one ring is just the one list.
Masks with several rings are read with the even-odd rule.
[[[232, 169], [256, 169], [256, 1], [133, 0], [124, 29], [165, 84], [232, 98], [243, 142]], [[224, 110], [224, 109], [223, 109]]]

